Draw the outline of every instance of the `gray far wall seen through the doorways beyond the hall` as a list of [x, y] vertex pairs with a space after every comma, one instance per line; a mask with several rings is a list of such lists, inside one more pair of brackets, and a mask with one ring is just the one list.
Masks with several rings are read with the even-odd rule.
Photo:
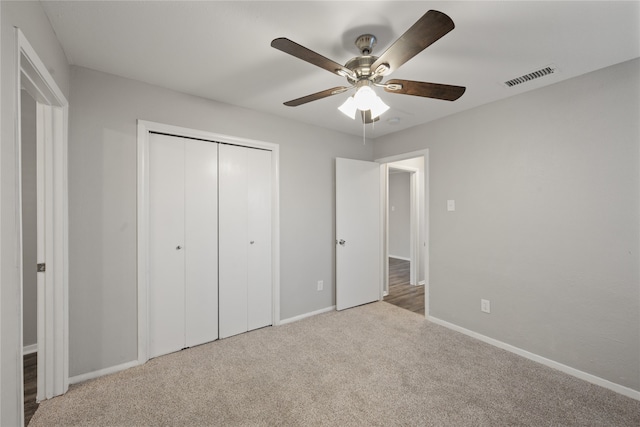
[[389, 256], [411, 257], [411, 175], [389, 173]]

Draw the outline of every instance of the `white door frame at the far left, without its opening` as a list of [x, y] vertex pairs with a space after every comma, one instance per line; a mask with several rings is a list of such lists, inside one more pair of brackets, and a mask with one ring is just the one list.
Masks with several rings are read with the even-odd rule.
[[[22, 259], [22, 135], [21, 95], [26, 90], [36, 101], [38, 210], [37, 348], [38, 401], [61, 395], [69, 388], [69, 235], [68, 235], [68, 115], [69, 103], [55, 80], [19, 28], [16, 39], [15, 151], [17, 268], [19, 273], [20, 354], [23, 353], [23, 259]], [[40, 233], [42, 229], [42, 233]], [[35, 268], [35, 266], [33, 266]], [[44, 279], [44, 280], [42, 280]], [[46, 282], [46, 287], [44, 286]], [[22, 377], [23, 359], [18, 358]], [[24, 384], [20, 402], [24, 406]], [[22, 423], [24, 423], [24, 411]]]

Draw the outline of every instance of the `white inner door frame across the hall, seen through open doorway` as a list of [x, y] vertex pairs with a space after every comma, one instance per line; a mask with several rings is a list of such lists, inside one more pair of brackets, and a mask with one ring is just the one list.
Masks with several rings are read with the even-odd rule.
[[[409, 272], [409, 284], [418, 285], [420, 265], [420, 185], [418, 182], [419, 172], [418, 168], [394, 165], [394, 162], [386, 163], [385, 169], [387, 171], [386, 179], [384, 182], [384, 205], [385, 205], [385, 219], [384, 219], [384, 260], [389, 259], [389, 175], [391, 169], [402, 171], [409, 174], [409, 259], [410, 259], [410, 272]], [[383, 261], [384, 261], [383, 260]], [[389, 268], [385, 267], [384, 292], [385, 296], [389, 293]]]

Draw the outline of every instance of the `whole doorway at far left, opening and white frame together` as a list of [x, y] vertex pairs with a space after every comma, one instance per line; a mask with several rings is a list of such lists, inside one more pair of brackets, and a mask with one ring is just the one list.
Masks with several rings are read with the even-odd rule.
[[[18, 354], [22, 355], [16, 368], [23, 373], [16, 394], [24, 408], [24, 353], [36, 350], [38, 402], [68, 388], [68, 102], [19, 28], [15, 39]], [[25, 423], [24, 411], [21, 421]]]

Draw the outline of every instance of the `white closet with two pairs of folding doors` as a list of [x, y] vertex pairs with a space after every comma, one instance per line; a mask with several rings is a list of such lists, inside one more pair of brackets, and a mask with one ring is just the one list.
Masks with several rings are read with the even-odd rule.
[[271, 152], [149, 134], [149, 356], [272, 323]]

